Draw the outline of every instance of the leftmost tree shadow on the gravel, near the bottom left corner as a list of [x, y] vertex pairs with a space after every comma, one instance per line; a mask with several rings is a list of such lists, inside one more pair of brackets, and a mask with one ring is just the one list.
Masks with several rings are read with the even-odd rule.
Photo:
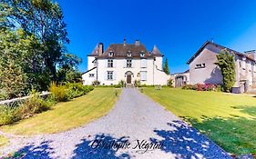
[[49, 146], [51, 142], [42, 142], [40, 145], [30, 144], [18, 150], [13, 156], [6, 157], [8, 159], [50, 159], [50, 154], [54, 154], [53, 148]]

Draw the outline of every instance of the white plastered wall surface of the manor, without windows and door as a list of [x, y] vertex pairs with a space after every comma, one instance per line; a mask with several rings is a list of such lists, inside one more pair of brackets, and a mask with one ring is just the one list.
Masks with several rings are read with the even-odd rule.
[[[90, 58], [90, 59], [89, 59]], [[88, 61], [92, 61], [91, 56], [88, 56]], [[134, 83], [135, 80], [140, 80], [140, 71], [147, 72], [147, 80], [140, 81], [141, 84], [167, 84], [169, 75], [164, 72], [159, 71], [162, 69], [162, 57], [156, 57], [156, 61], [153, 58], [146, 60], [147, 67], [142, 67], [141, 59], [132, 59], [132, 67], [127, 68], [127, 59], [114, 59], [112, 68], [108, 67], [108, 59], [98, 59], [97, 60], [97, 80], [100, 84], [110, 85], [118, 84], [119, 81], [127, 81], [126, 73], [128, 71], [132, 72], [131, 82]], [[157, 65], [157, 66], [156, 66]], [[90, 66], [90, 65], [88, 65]], [[113, 80], [107, 79], [107, 72], [113, 71]], [[82, 75], [84, 84], [91, 84], [96, 80], [95, 78], [89, 77], [89, 74], [96, 74], [96, 69]]]

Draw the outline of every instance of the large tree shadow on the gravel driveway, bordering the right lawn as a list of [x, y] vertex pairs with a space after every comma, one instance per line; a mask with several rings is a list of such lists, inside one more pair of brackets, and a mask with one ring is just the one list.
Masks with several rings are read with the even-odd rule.
[[165, 153], [176, 154], [177, 159], [190, 158], [214, 158], [230, 159], [220, 147], [212, 143], [196, 129], [184, 124], [181, 121], [168, 123], [173, 130], [155, 130], [162, 140], [151, 138], [152, 143], [163, 142], [161, 151]]

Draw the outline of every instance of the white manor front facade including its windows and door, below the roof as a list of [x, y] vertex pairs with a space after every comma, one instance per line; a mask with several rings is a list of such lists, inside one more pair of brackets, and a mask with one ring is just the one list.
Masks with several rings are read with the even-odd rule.
[[[157, 49], [157, 48], [156, 48]], [[108, 51], [104, 54], [108, 54]], [[127, 84], [166, 85], [169, 75], [162, 71], [162, 55], [98, 58], [98, 55], [87, 56], [87, 72], [82, 75], [83, 84], [92, 84], [98, 81], [102, 85], [118, 84], [121, 80]]]

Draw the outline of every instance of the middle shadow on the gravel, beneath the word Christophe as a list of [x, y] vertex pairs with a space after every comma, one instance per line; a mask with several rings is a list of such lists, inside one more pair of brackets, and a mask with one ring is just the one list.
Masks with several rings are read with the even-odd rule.
[[113, 141], [119, 144], [126, 143], [128, 137], [115, 138], [108, 134], [97, 134], [93, 140], [82, 139], [81, 144], [77, 144], [76, 149], [73, 151], [74, 156], [72, 159], [129, 159], [129, 154], [118, 154], [115, 146], [110, 145]]

